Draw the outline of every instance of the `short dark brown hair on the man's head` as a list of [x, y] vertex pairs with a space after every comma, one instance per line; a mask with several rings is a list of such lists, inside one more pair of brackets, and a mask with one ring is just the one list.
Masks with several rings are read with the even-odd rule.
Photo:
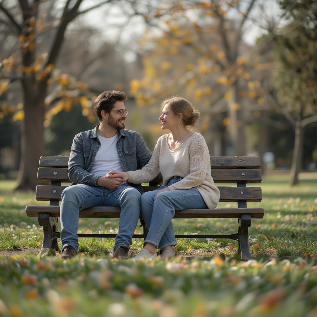
[[123, 91], [104, 91], [94, 101], [94, 111], [98, 120], [102, 120], [101, 111], [110, 112], [116, 101], [126, 101], [127, 95]]

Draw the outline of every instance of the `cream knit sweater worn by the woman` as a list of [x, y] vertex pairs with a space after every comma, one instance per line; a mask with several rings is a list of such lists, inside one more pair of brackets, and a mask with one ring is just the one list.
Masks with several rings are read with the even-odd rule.
[[216, 208], [220, 191], [211, 177], [210, 155], [204, 137], [194, 133], [176, 149], [170, 150], [168, 135], [162, 135], [158, 139], [147, 165], [141, 170], [127, 172], [128, 182], [146, 183], [161, 173], [162, 186], [165, 186], [172, 176], [180, 176], [183, 179], [168, 186], [170, 190], [196, 187], [208, 208]]

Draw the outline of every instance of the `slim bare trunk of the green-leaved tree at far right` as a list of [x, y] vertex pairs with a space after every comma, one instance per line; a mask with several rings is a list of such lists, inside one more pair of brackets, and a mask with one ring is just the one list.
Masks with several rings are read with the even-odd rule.
[[303, 154], [303, 140], [304, 140], [304, 127], [301, 125], [301, 121], [296, 121], [291, 178], [289, 183], [290, 186], [293, 186], [299, 183], [298, 173], [301, 170], [301, 161], [302, 161], [302, 154]]

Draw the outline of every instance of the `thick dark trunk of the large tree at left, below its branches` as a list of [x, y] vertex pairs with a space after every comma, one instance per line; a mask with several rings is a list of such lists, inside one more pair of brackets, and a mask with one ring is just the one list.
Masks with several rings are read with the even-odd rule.
[[[24, 87], [25, 89], [25, 87]], [[24, 90], [24, 120], [21, 131], [21, 160], [16, 190], [35, 190], [37, 168], [44, 151], [44, 100], [35, 99], [35, 92]]]

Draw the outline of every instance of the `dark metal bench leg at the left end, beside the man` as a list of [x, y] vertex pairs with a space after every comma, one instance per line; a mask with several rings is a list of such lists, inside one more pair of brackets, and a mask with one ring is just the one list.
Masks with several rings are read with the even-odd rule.
[[50, 249], [61, 252], [57, 244], [57, 238], [60, 236], [56, 227], [58, 218], [51, 217], [48, 213], [39, 213], [38, 221], [39, 225], [43, 227], [43, 244], [40, 255], [46, 256]]

